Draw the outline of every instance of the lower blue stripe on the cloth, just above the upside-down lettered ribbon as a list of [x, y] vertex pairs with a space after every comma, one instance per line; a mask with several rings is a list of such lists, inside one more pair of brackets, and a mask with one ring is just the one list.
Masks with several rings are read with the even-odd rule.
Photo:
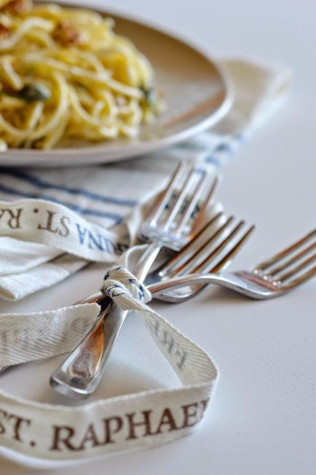
[[67, 206], [67, 208], [70, 208], [71, 210], [76, 211], [80, 214], [85, 214], [87, 216], [95, 216], [99, 218], [113, 219], [113, 221], [115, 221], [115, 224], [119, 224], [122, 221], [122, 216], [120, 216], [120, 214], [117, 214], [117, 213], [91, 210], [89, 208], [82, 208], [82, 206], [74, 205], [72, 203], [67, 203], [65, 201], [60, 201], [59, 199], [56, 199], [54, 197], [49, 197], [47, 195], [38, 195], [38, 193], [26, 193], [23, 191], [14, 190], [14, 188], [5, 186], [3, 184], [0, 184], [0, 191], [6, 193], [7, 195], [16, 195], [22, 198], [44, 199], [45, 201], [53, 201], [54, 203]]

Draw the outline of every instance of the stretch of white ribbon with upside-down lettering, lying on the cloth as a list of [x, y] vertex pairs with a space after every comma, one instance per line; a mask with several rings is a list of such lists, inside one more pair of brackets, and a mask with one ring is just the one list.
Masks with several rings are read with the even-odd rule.
[[91, 223], [66, 206], [42, 199], [0, 201], [0, 236], [40, 243], [89, 261], [115, 261], [127, 249], [127, 233]]

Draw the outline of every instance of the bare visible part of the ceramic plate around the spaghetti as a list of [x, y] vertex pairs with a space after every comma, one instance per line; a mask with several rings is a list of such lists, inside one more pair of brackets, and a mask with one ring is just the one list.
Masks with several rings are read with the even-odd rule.
[[10, 149], [0, 153], [1, 166], [76, 166], [144, 155], [210, 128], [231, 107], [234, 92], [229, 76], [212, 58], [155, 27], [113, 12], [100, 13], [111, 16], [115, 32], [131, 38], [148, 56], [167, 104], [166, 111], [155, 124], [143, 126], [137, 139], [75, 143], [71, 148], [50, 151]]

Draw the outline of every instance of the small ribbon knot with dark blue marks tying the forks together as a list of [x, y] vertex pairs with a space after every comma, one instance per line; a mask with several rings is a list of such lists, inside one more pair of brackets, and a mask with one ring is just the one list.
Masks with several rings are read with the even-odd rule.
[[[142, 285], [139, 280], [126, 267], [115, 265], [111, 267], [104, 276], [104, 292], [112, 300], [116, 300], [120, 307], [126, 307], [124, 300], [135, 302], [150, 302], [151, 294], [145, 285]], [[123, 299], [124, 297], [124, 299]], [[123, 305], [122, 305], [123, 304]]]

